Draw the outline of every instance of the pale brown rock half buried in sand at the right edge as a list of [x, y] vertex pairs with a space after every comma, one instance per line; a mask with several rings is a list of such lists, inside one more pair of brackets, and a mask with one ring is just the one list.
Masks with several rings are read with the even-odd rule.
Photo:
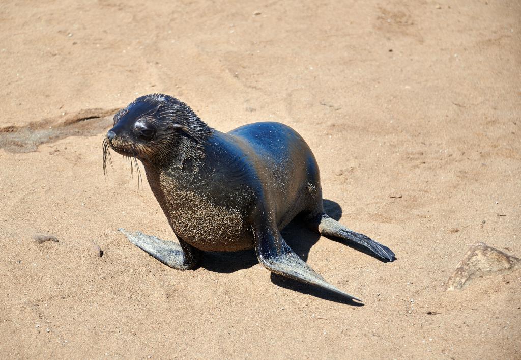
[[467, 250], [463, 260], [458, 263], [456, 270], [447, 281], [445, 291], [460, 290], [468, 280], [481, 275], [519, 267], [521, 267], [521, 259], [480, 242]]

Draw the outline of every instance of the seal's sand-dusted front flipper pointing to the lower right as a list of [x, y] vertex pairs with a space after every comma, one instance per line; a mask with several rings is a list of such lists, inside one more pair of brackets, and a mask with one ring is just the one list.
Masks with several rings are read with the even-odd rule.
[[329, 284], [297, 256], [280, 235], [277, 226], [257, 226], [254, 229], [255, 251], [262, 266], [271, 272], [313, 284], [349, 299], [360, 299]]

